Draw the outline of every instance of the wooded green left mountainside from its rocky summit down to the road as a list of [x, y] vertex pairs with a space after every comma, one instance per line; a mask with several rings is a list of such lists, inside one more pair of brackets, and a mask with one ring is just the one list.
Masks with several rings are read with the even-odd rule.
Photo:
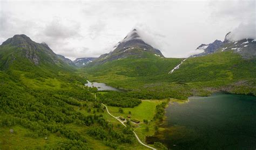
[[[131, 128], [106, 120], [95, 99], [97, 90], [85, 87], [86, 79], [74, 73], [76, 68], [45, 46], [25, 35], [0, 46], [0, 149], [138, 145]], [[124, 99], [120, 104], [139, 103]]]

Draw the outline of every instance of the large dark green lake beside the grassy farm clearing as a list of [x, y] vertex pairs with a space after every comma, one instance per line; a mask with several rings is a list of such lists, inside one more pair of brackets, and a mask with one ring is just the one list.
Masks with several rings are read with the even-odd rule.
[[170, 149], [256, 149], [256, 97], [213, 94], [166, 108], [158, 138]]

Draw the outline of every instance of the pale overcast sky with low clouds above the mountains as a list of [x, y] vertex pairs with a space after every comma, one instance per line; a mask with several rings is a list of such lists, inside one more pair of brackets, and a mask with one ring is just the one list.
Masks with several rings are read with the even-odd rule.
[[72, 60], [109, 53], [133, 28], [168, 58], [215, 39], [256, 38], [255, 1], [2, 1], [0, 43], [15, 34]]

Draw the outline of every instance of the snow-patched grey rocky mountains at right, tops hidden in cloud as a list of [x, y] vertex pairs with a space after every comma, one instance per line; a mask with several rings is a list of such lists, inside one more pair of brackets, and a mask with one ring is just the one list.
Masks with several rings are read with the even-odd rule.
[[253, 39], [242, 39], [238, 41], [229, 40], [228, 32], [225, 36], [224, 41], [215, 40], [211, 44], [201, 44], [196, 51], [201, 52], [190, 57], [205, 56], [208, 54], [224, 51], [233, 51], [240, 54], [243, 58], [250, 59], [256, 56], [256, 40]]

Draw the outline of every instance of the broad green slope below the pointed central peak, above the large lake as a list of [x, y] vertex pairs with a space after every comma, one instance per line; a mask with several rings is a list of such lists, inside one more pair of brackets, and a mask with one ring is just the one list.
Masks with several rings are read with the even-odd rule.
[[233, 51], [183, 59], [160, 58], [144, 52], [145, 58], [114, 60], [83, 69], [90, 80], [127, 90], [134, 98], [186, 99], [208, 96], [215, 91], [256, 95], [256, 59], [242, 59]]

